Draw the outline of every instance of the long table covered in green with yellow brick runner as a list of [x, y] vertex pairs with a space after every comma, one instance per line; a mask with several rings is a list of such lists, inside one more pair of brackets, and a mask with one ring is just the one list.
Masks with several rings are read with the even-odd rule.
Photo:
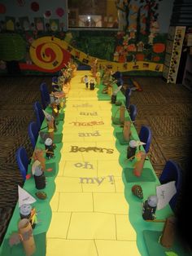
[[[122, 127], [111, 121], [116, 113], [118, 117], [119, 107], [111, 105], [108, 95], [102, 95], [102, 86], [85, 89], [81, 77], [86, 73], [79, 71], [72, 78], [64, 121], [59, 121], [62, 141], [56, 144], [55, 158], [46, 161], [54, 166], [46, 173], [47, 199], [37, 199], [33, 204], [39, 212], [39, 223], [33, 230], [37, 247], [34, 255], [146, 256], [149, 252], [144, 232], [161, 232], [164, 223], [143, 220], [142, 201], [133, 196], [131, 188], [140, 184], [146, 200], [155, 194], [159, 180], [150, 160], [145, 161], [143, 179], [126, 177], [134, 161], [126, 161], [127, 145], [116, 138]], [[124, 103], [121, 92], [117, 99]], [[133, 125], [131, 130], [132, 139], [138, 139]], [[37, 148], [43, 147], [38, 139]], [[24, 189], [35, 196], [33, 178], [26, 180]], [[169, 205], [156, 212], [159, 219], [171, 214]], [[24, 255], [21, 244], [8, 245], [19, 219], [17, 204], [0, 255]]]

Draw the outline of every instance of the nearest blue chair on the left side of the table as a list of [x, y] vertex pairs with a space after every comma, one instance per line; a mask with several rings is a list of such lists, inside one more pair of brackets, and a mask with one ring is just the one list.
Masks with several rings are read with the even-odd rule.
[[28, 163], [29, 163], [28, 155], [25, 148], [23, 147], [18, 148], [15, 156], [16, 156], [17, 165], [20, 169], [20, 173], [23, 179], [25, 180], [26, 174], [28, 172]]

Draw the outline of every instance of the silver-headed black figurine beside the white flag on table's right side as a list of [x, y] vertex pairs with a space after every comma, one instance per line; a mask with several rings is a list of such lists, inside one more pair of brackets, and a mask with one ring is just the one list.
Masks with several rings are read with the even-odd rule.
[[155, 219], [155, 210], [157, 207], [157, 196], [149, 196], [142, 205], [142, 218], [145, 220]]

